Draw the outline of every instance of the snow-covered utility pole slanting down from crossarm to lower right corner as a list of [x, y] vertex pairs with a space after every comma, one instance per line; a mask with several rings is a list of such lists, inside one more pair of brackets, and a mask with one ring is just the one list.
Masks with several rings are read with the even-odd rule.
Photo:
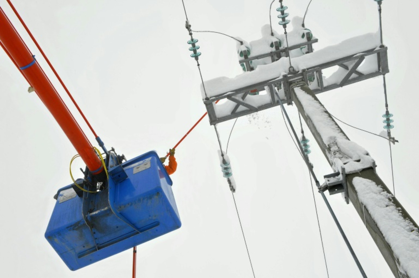
[[292, 96], [334, 172], [342, 174], [345, 170], [346, 175], [339, 177], [344, 176], [345, 194], [394, 276], [419, 278], [418, 226], [378, 177], [374, 160], [349, 141], [307, 85], [292, 84]]

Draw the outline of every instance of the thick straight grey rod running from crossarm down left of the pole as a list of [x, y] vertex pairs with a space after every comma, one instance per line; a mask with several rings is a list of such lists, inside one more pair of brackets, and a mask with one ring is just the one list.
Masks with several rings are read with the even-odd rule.
[[[277, 96], [277, 98], [278, 98], [279, 104], [280, 104], [280, 106], [281, 106], [281, 109], [282, 109], [283, 113], [285, 114], [285, 116], [286, 116], [286, 118], [287, 118], [288, 124], [290, 125], [290, 128], [291, 128], [291, 130], [292, 130], [292, 133], [294, 134], [295, 139], [298, 141], [298, 136], [297, 136], [297, 133], [295, 132], [294, 127], [292, 126], [292, 122], [291, 122], [291, 120], [290, 120], [290, 117], [288, 117], [287, 111], [285, 110], [285, 107], [284, 107], [284, 104], [282, 103], [281, 98], [279, 98], [279, 94], [278, 94], [277, 90], [275, 90], [275, 91], [274, 91], [274, 93], [275, 93], [275, 95], [276, 95], [276, 96]], [[301, 156], [303, 157], [303, 160], [304, 160], [304, 162], [305, 162], [305, 165], [308, 167], [308, 170], [310, 171], [310, 174], [311, 174], [311, 176], [313, 177], [314, 182], [316, 183], [316, 187], [317, 187], [317, 188], [320, 188], [320, 183], [319, 183], [319, 181], [318, 181], [318, 180], [317, 180], [317, 178], [316, 178], [316, 174], [314, 173], [313, 168], [311, 167], [310, 162], [308, 161], [308, 158], [307, 158], [306, 156], [303, 156], [303, 152], [304, 152], [304, 150], [303, 150], [303, 147], [301, 147], [301, 145], [299, 146], [299, 149], [300, 149], [300, 154], [301, 154]], [[344, 242], [346, 243], [346, 245], [347, 245], [347, 247], [348, 247], [348, 249], [349, 249], [349, 252], [350, 252], [350, 253], [351, 253], [351, 255], [352, 255], [352, 258], [354, 259], [355, 263], [357, 264], [357, 267], [358, 267], [358, 269], [360, 270], [360, 273], [361, 273], [362, 277], [363, 277], [363, 278], [367, 278], [367, 275], [365, 274], [364, 269], [362, 268], [361, 263], [360, 263], [360, 261], [359, 261], [359, 260], [358, 260], [358, 258], [357, 258], [357, 255], [355, 254], [354, 250], [352, 249], [352, 246], [351, 246], [351, 244], [349, 243], [349, 240], [348, 240], [348, 238], [346, 237], [346, 234], [345, 234], [345, 232], [343, 231], [343, 229], [342, 229], [342, 227], [341, 227], [341, 225], [340, 225], [340, 223], [339, 223], [339, 220], [336, 218], [336, 215], [335, 215], [335, 213], [334, 213], [334, 211], [333, 211], [332, 207], [330, 206], [330, 203], [329, 203], [329, 201], [327, 200], [326, 195], [324, 194], [324, 192], [323, 192], [322, 190], [318, 190], [318, 192], [321, 194], [321, 196], [322, 196], [322, 198], [323, 198], [323, 201], [325, 202], [325, 204], [326, 204], [326, 206], [327, 206], [327, 208], [328, 208], [328, 211], [329, 211], [329, 213], [331, 214], [331, 216], [332, 216], [332, 218], [333, 218], [333, 220], [334, 220], [334, 222], [335, 222], [335, 224], [336, 224], [336, 227], [339, 229], [339, 232], [340, 232], [340, 234], [341, 234], [342, 238], [344, 239]]]

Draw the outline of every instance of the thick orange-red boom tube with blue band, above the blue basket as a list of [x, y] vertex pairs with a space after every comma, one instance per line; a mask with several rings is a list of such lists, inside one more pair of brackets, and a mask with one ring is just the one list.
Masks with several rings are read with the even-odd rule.
[[47, 106], [88, 169], [96, 176], [103, 173], [102, 162], [92, 144], [1, 8], [0, 46], [3, 47], [16, 67], [21, 70], [22, 75], [34, 88], [44, 105]]

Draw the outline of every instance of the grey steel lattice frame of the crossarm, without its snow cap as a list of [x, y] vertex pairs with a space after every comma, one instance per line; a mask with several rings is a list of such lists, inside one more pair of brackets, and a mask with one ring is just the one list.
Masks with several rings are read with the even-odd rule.
[[[313, 40], [314, 41], [314, 40]], [[310, 55], [310, 54], [306, 54]], [[375, 72], [370, 73], [362, 73], [360, 70], [358, 70], [358, 67], [362, 64], [364, 59], [368, 56], [376, 55], [377, 56], [377, 70]], [[349, 66], [348, 66], [349, 64]], [[352, 67], [350, 67], [350, 64], [353, 64]], [[346, 76], [342, 78], [337, 84], [330, 84], [325, 86], [323, 83], [323, 77], [322, 77], [322, 70], [327, 69], [330, 67], [339, 66], [341, 68], [344, 68], [348, 70]], [[329, 90], [334, 90], [336, 88], [340, 88], [343, 86], [347, 86], [356, 82], [360, 82], [363, 80], [367, 80], [373, 77], [377, 77], [380, 75], [385, 75], [388, 73], [388, 60], [387, 60], [387, 47], [382, 48], [376, 48], [376, 49], [368, 49], [365, 51], [362, 51], [361, 53], [356, 53], [353, 55], [349, 55], [347, 57], [342, 57], [340, 59], [336, 59], [334, 61], [322, 63], [313, 67], [309, 67], [307, 69], [301, 70], [296, 75], [284, 75], [281, 76], [278, 74], [278, 77], [271, 78], [262, 82], [255, 83], [253, 85], [248, 85], [242, 88], [238, 88], [235, 90], [231, 90], [229, 92], [220, 93], [217, 95], [213, 95], [209, 100], [204, 100], [204, 104], [207, 107], [209, 121], [211, 125], [222, 123], [223, 121], [228, 121], [234, 118], [238, 118], [241, 116], [245, 116], [251, 113], [254, 113], [256, 111], [262, 111], [268, 108], [272, 108], [274, 106], [277, 106], [277, 101], [272, 98], [272, 103], [267, 103], [261, 106], [258, 106], [255, 108], [250, 108], [250, 104], [246, 103], [246, 98], [248, 97], [248, 94], [252, 91], [257, 89], [259, 92], [263, 91], [265, 87], [282, 87], [285, 90], [285, 99], [283, 100], [288, 105], [292, 104], [292, 95], [290, 93], [290, 84], [293, 82], [296, 82], [298, 80], [304, 80], [308, 81], [308, 75], [316, 75], [317, 84], [312, 84], [310, 87], [312, 88], [312, 92], [314, 94], [319, 94], [323, 92], [327, 92]], [[352, 77], [352, 75], [356, 75]], [[315, 81], [316, 82], [316, 81]], [[256, 96], [257, 97], [257, 96]], [[229, 98], [234, 98], [234, 101], [236, 105], [232, 109], [230, 115], [217, 117], [217, 114], [215, 112], [214, 106], [215, 102], [217, 100], [227, 99], [228, 101], [232, 101]], [[241, 102], [240, 102], [241, 100]], [[246, 103], [248, 106], [245, 111], [238, 111], [238, 108], [240, 106], [245, 106], [244, 103]], [[253, 107], [253, 105], [251, 105]]]

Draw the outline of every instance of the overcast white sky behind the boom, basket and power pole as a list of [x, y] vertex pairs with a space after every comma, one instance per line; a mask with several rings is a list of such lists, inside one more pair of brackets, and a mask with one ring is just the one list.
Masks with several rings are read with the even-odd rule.
[[[308, 0], [285, 0], [290, 16], [303, 16]], [[54, 67], [108, 148], [127, 158], [173, 147], [202, 116], [196, 63], [189, 57], [181, 0], [13, 1]], [[185, 0], [192, 28], [260, 38], [269, 23], [270, 0]], [[274, 3], [272, 19], [277, 25]], [[39, 51], [0, 0], [39, 63], [74, 114]], [[384, 42], [390, 73], [388, 102], [394, 116], [396, 197], [419, 221], [417, 186], [417, 28], [413, 0], [383, 1]], [[373, 0], [313, 0], [306, 27], [315, 46], [339, 43], [378, 30]], [[196, 33], [204, 80], [241, 73], [235, 41]], [[76, 272], [67, 269], [44, 239], [57, 190], [70, 184], [68, 165], [75, 154], [39, 98], [0, 51], [0, 275], [2, 277], [130, 277], [132, 251]], [[385, 112], [382, 78], [377, 77], [319, 96], [336, 117], [378, 133]], [[297, 125], [297, 110], [287, 107]], [[77, 116], [91, 142], [93, 135]], [[225, 146], [233, 121], [219, 125]], [[377, 161], [389, 188], [388, 143], [342, 126]], [[308, 133], [308, 129], [306, 128]], [[310, 160], [319, 180], [331, 168], [313, 136]], [[137, 277], [253, 277], [228, 184], [220, 171], [214, 128], [204, 120], [176, 151], [178, 170], [171, 176], [183, 226], [138, 247]], [[285, 128], [279, 108], [239, 118], [228, 154], [237, 182], [235, 198], [258, 278], [326, 276], [308, 170]], [[74, 169], [82, 167], [81, 160]], [[77, 172], [77, 171], [76, 171]], [[328, 194], [327, 194], [328, 195]], [[393, 277], [352, 205], [328, 196], [369, 278]], [[361, 277], [326, 206], [316, 193], [330, 277]], [[418, 258], [419, 259], [419, 258]]]

